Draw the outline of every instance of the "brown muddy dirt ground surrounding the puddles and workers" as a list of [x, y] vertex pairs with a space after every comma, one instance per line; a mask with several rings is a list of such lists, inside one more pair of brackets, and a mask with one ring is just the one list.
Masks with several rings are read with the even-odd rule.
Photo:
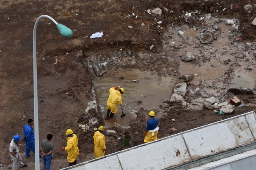
[[[32, 35], [33, 26], [40, 15], [47, 14], [73, 31], [71, 38], [63, 38], [54, 23], [49, 19], [41, 19], [36, 38], [39, 136], [41, 141], [48, 133], [54, 135], [52, 142], [55, 151], [52, 169], [60, 169], [69, 166], [66, 152], [60, 149], [66, 145], [64, 134], [68, 128], [78, 136], [80, 150], [78, 163], [94, 158], [92, 139], [94, 128], [105, 125], [97, 92], [92, 83], [95, 77], [114, 76], [121, 80], [126, 76], [122, 74], [122, 70], [139, 68], [142, 71], [157, 71], [159, 81], [162, 76], [169, 75], [173, 77], [175, 83], [184, 82], [180, 79], [183, 74], [179, 70], [185, 61], [182, 61], [179, 52], [186, 45], [192, 47], [191, 49], [201, 50], [201, 53], [197, 53], [196, 59], [190, 62], [191, 65], [199, 68], [210, 66], [212, 69], [225, 66], [225, 71], [218, 73], [217, 78], [211, 78], [210, 75], [206, 81], [196, 79], [195, 82], [187, 83], [190, 91], [199, 87], [204, 92], [199, 102], [198, 97], [189, 92], [184, 98], [190, 107], [164, 101], [160, 106], [161, 109], [155, 110], [159, 119], [159, 138], [256, 110], [254, 94], [227, 92], [236, 69], [242, 68], [256, 75], [256, 53], [254, 53], [256, 45], [253, 43], [256, 40], [256, 27], [251, 25], [256, 14], [254, 3], [253, 0], [182, 2], [180, 0], [86, 2], [2, 0], [0, 2], [0, 118], [2, 120], [0, 162], [3, 166], [0, 169], [11, 169], [9, 142], [16, 133], [23, 137], [24, 125], [28, 118], [33, 119]], [[252, 5], [251, 12], [244, 9], [244, 5], [247, 4]], [[162, 14], [147, 12], [148, 9], [157, 7], [162, 10]], [[215, 34], [217, 37], [215, 47], [214, 43], [213, 46], [200, 43], [197, 37], [193, 38], [193, 42], [187, 43], [188, 39], [174, 33], [184, 26], [196, 27], [200, 33], [206, 28], [210, 29], [212, 25], [207, 25], [205, 22], [185, 21], [185, 12], [196, 10], [200, 12], [196, 14], [196, 18], [211, 13], [218, 19], [230, 18], [239, 21], [237, 30], [227, 31], [230, 35], [225, 52], [221, 51], [224, 47], [216, 47], [218, 40], [223, 38], [221, 33]], [[158, 21], [162, 21], [160, 26], [157, 24]], [[219, 22], [220, 20], [216, 23]], [[133, 28], [130, 29], [128, 26]], [[101, 38], [90, 39], [92, 33], [100, 31], [104, 33]], [[175, 36], [180, 38], [179, 47], [171, 46], [170, 42]], [[247, 42], [252, 45], [246, 44]], [[152, 44], [154, 48], [150, 50]], [[217, 50], [211, 52], [209, 49], [213, 48]], [[233, 51], [235, 54], [232, 54]], [[247, 55], [243, 55], [243, 52], [247, 52]], [[221, 59], [217, 62], [216, 55], [225, 55], [225, 62]], [[107, 61], [106, 65], [102, 64], [104, 61]], [[102, 75], [104, 70], [107, 70], [107, 73]], [[256, 92], [256, 79], [252, 81], [254, 82], [252, 89]], [[219, 115], [218, 112], [202, 107], [198, 109], [200, 106], [198, 103], [205, 98], [216, 97], [225, 102], [233, 95], [236, 95], [246, 106], [235, 107], [233, 113], [225, 115]], [[93, 103], [94, 107], [87, 110], [92, 101], [96, 101]], [[142, 144], [148, 112], [149, 110], [140, 108], [136, 111], [137, 119], [129, 123], [128, 130], [133, 137], [130, 146], [124, 146], [123, 140], [118, 140], [122, 132], [127, 129], [117, 128], [114, 125], [109, 127], [111, 130], [116, 130], [117, 135], [106, 136], [106, 154]], [[93, 118], [97, 119], [97, 123], [90, 123], [89, 120]], [[88, 128], [83, 130], [78, 126], [79, 124], [86, 124]], [[23, 161], [28, 164], [27, 169], [33, 170], [34, 155], [25, 158], [24, 152], [25, 147], [21, 148]], [[40, 167], [43, 168], [42, 163]]]

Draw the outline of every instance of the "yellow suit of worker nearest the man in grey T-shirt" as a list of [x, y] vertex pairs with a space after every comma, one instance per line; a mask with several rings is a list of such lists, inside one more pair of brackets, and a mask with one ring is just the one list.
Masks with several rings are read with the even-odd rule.
[[67, 142], [66, 142], [66, 153], [68, 154], [67, 160], [69, 161], [69, 163], [73, 163], [77, 156], [79, 155], [79, 149], [77, 147], [78, 144], [78, 139], [77, 136], [75, 134], [73, 134], [73, 137], [68, 137], [66, 138]]

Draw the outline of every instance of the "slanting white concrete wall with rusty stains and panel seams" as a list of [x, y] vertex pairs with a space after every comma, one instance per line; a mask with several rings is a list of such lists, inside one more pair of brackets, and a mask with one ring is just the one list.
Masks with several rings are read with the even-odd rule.
[[111, 153], [104, 158], [80, 163], [73, 166], [73, 170], [161, 170], [180, 165], [255, 142], [255, 117], [254, 111], [244, 113], [154, 142]]

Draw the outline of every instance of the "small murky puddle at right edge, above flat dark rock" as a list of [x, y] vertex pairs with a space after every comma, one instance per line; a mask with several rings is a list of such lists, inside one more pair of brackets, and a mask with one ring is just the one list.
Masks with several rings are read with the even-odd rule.
[[254, 89], [255, 77], [252, 71], [235, 71], [234, 74], [235, 76], [231, 81], [231, 85]]

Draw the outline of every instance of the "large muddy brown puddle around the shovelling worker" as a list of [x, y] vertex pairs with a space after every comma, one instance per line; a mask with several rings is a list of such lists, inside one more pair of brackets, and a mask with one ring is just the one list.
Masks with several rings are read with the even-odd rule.
[[[139, 69], [123, 71], [124, 79], [117, 80], [115, 77], [98, 77], [93, 80], [95, 90], [98, 94], [102, 116], [107, 113], [107, 99], [109, 97], [109, 88], [120, 85], [125, 89], [122, 94], [122, 108], [126, 116], [121, 116], [121, 107], [118, 105], [118, 111], [114, 118], [106, 121], [106, 126], [115, 125], [128, 128], [131, 119], [136, 118], [135, 111], [140, 108], [146, 110], [159, 109], [163, 101], [171, 98], [171, 89], [174, 86], [171, 77], [161, 77], [151, 71], [142, 72]], [[137, 80], [134, 82], [133, 80]]]

